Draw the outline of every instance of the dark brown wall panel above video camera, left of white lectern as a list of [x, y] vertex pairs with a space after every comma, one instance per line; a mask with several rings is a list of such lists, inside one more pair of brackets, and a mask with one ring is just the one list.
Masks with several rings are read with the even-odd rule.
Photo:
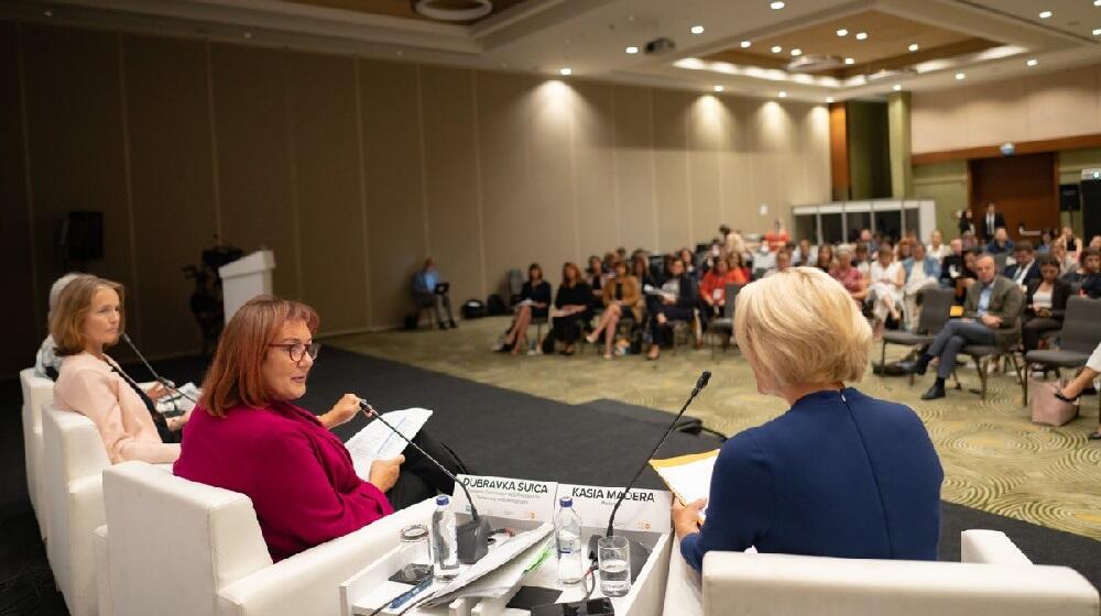
[[124, 36], [123, 61], [134, 293], [148, 316], [134, 340], [152, 355], [197, 352], [203, 337], [188, 307], [195, 287], [181, 270], [197, 265], [217, 233], [206, 45]]

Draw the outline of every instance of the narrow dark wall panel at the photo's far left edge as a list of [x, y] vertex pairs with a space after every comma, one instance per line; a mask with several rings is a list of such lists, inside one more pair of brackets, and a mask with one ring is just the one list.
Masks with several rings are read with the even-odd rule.
[[0, 350], [0, 374], [31, 365], [34, 349], [45, 336], [46, 293], [33, 277], [34, 252], [26, 202], [26, 160], [23, 155], [23, 110], [19, 87], [19, 41], [15, 24], [0, 22], [0, 263], [9, 297], [3, 319], [9, 340]]

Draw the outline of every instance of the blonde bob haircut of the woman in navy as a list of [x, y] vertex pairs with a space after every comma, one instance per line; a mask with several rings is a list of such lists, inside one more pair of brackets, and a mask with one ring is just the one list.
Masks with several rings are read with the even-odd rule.
[[775, 394], [791, 385], [863, 378], [872, 329], [829, 274], [792, 267], [738, 294], [734, 338], [757, 388]]

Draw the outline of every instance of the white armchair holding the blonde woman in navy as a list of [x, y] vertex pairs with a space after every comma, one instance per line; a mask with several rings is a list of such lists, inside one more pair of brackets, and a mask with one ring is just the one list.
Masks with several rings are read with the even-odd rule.
[[1002, 532], [967, 530], [961, 551], [963, 562], [708, 552], [704, 614], [1098, 614], [1098, 592], [1084, 578], [1067, 566], [1033, 565]]

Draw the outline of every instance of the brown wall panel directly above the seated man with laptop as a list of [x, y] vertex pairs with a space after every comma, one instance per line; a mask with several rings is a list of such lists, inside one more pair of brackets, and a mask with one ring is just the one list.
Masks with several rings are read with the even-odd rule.
[[493, 268], [483, 278], [472, 74], [423, 67], [421, 96], [428, 238], [458, 309], [469, 298], [484, 300], [487, 286], [495, 293], [504, 275]]

